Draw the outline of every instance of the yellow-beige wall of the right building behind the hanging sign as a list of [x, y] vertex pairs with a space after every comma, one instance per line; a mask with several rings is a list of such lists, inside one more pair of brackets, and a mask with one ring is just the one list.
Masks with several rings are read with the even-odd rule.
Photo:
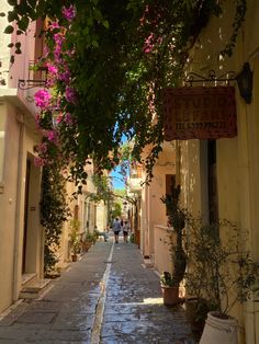
[[[233, 3], [224, 2], [226, 9], [222, 18], [213, 18], [201, 33], [192, 50], [188, 70], [206, 74], [214, 69], [216, 74], [229, 70], [238, 73], [244, 62], [249, 61], [254, 70], [252, 103], [247, 105], [240, 98], [236, 82], [236, 105], [238, 136], [218, 139], [217, 150], [217, 188], [219, 218], [227, 218], [249, 232], [247, 242], [255, 259], [259, 260], [259, 3], [248, 0], [248, 12], [244, 28], [240, 31], [232, 58], [218, 59], [218, 51], [224, 47], [230, 33], [230, 18], [235, 13]], [[181, 141], [180, 165], [181, 185], [184, 205], [194, 215], [206, 213], [206, 159], [204, 142], [199, 140]], [[224, 237], [224, 233], [222, 233]], [[259, 316], [257, 303], [236, 307], [233, 316], [239, 324], [246, 324], [243, 343], [254, 344], [259, 341]], [[245, 340], [246, 336], [246, 340]]]

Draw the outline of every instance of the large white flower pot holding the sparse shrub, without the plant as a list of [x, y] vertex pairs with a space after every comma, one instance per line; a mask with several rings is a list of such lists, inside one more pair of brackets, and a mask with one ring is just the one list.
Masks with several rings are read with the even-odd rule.
[[216, 317], [217, 313], [207, 313], [200, 344], [238, 344], [236, 319], [221, 319]]

